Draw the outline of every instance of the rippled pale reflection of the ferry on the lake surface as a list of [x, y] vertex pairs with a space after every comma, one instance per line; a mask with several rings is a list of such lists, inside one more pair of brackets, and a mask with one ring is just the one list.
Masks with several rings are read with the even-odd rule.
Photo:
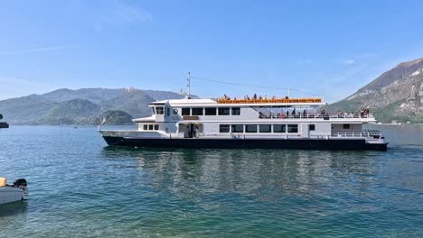
[[[362, 193], [364, 175], [374, 173], [379, 152], [277, 150], [128, 150], [107, 147], [105, 157], [134, 157], [149, 184], [176, 197], [240, 194], [275, 200], [289, 195], [320, 195], [338, 190], [337, 178], [355, 176]], [[353, 157], [353, 158], [352, 158]], [[353, 159], [353, 160], [351, 160]], [[119, 159], [116, 159], [119, 160]], [[364, 187], [362, 187], [364, 186]], [[344, 189], [344, 188], [342, 188]]]

